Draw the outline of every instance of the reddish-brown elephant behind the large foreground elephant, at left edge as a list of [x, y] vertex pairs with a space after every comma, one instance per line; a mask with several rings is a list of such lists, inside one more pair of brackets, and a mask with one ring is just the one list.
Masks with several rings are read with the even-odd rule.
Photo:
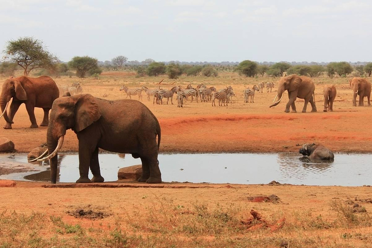
[[[60, 95], [57, 84], [54, 80], [47, 76], [39, 78], [18, 77], [8, 78], [2, 85], [0, 96], [0, 108], [2, 116], [6, 121], [5, 129], [12, 129], [14, 115], [19, 106], [24, 103], [27, 113], [30, 116], [31, 128], [38, 127], [36, 123], [34, 108], [42, 108], [44, 110], [44, 118], [40, 126], [47, 126], [49, 123], [49, 110], [52, 108], [53, 101]], [[13, 101], [10, 105], [9, 116], [7, 107], [10, 99]]]

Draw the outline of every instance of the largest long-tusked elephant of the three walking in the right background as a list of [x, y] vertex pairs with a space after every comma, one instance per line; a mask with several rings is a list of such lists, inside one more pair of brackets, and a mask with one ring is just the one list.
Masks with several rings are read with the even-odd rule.
[[[278, 85], [278, 94], [275, 96], [273, 104], [270, 105], [271, 107], [277, 106], [281, 98], [283, 98], [284, 91], [288, 91], [288, 98], [289, 101], [285, 107], [284, 112], [289, 113], [289, 107], [292, 107], [292, 112], [296, 112], [296, 106], [294, 104], [294, 101], [296, 98], [305, 99], [304, 108], [302, 109], [302, 112], [306, 112], [306, 108], [308, 106], [308, 103], [311, 104], [311, 112], [316, 112], [316, 106], [315, 106], [315, 85], [312, 82], [311, 78], [305, 77], [305, 76], [297, 76], [295, 74], [282, 77], [279, 80]], [[279, 101], [275, 102], [275, 100], [279, 97]], [[274, 103], [275, 102], [275, 103]]]

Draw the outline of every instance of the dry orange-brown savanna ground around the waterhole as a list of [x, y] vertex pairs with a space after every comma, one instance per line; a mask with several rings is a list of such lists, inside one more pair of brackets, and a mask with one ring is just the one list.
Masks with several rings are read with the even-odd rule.
[[[57, 85], [79, 81], [83, 93], [108, 100], [126, 97], [119, 91], [122, 85], [233, 87], [236, 96], [226, 107], [189, 99], [177, 108], [175, 97], [174, 105], [171, 101], [157, 105], [153, 97], [148, 101], [142, 93], [142, 103], [161, 125], [161, 153], [298, 153], [296, 145], [304, 143], [323, 144], [336, 158], [338, 152], [372, 152], [372, 109], [366, 101], [364, 107], [353, 107], [350, 78], [313, 78], [318, 111], [310, 112], [309, 105], [308, 113], [300, 112], [302, 99], [296, 101], [297, 113], [284, 113], [286, 93], [270, 109], [277, 85], [272, 93], [266, 88], [256, 92], [254, 103], [244, 103], [245, 88], [259, 82], [277, 83], [279, 78], [220, 73], [216, 78], [164, 78], [158, 84], [161, 76], [136, 78], [131, 72], [104, 72], [99, 79], [53, 79]], [[323, 87], [332, 84], [337, 88], [334, 111], [323, 112]], [[42, 109], [35, 109], [35, 115], [40, 123]], [[18, 153], [46, 142], [47, 127], [30, 129], [24, 105], [14, 123], [12, 130], [1, 129], [0, 137], [13, 140]], [[71, 130], [62, 151], [78, 151]], [[1, 248], [372, 247], [369, 186], [16, 182], [0, 187], [0, 195]]]

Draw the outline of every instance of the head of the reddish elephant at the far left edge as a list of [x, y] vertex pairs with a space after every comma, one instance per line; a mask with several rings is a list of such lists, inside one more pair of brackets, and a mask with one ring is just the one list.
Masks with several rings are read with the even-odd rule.
[[2, 85], [1, 96], [0, 96], [0, 108], [1, 108], [1, 116], [4, 116], [4, 119], [8, 123], [13, 122], [9, 119], [8, 114], [6, 113], [6, 109], [8, 108], [9, 101], [12, 98], [16, 98], [20, 101], [27, 100], [27, 94], [25, 89], [22, 87], [21, 82], [18, 80], [19, 78], [8, 78], [5, 80], [4, 84]]

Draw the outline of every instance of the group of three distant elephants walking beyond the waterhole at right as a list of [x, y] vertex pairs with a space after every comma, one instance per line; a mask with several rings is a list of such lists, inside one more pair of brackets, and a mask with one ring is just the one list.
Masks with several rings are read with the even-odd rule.
[[[365, 78], [353, 78], [349, 80], [350, 88], [353, 89], [353, 106], [356, 106], [356, 96], [359, 95], [359, 104], [358, 106], [364, 105], [364, 97], [367, 96], [368, 106], [371, 105], [370, 103], [370, 96], [371, 96], [371, 83], [367, 81]], [[316, 112], [315, 106], [315, 84], [311, 80], [311, 78], [306, 76], [297, 76], [297, 75], [290, 75], [287, 77], [282, 77], [279, 80], [278, 84], [278, 94], [275, 96], [273, 104], [270, 105], [271, 107], [277, 106], [281, 99], [283, 98], [284, 91], [288, 91], [288, 98], [289, 101], [285, 107], [284, 112], [289, 112], [290, 107], [292, 108], [292, 112], [296, 112], [296, 106], [294, 101], [296, 98], [304, 99], [305, 104], [302, 112], [306, 112], [308, 103], [311, 104], [311, 112]], [[333, 101], [336, 98], [336, 87], [332, 86], [325, 86], [324, 87], [324, 112], [327, 110], [333, 111]], [[279, 100], [275, 102], [275, 100], [279, 97]]]

